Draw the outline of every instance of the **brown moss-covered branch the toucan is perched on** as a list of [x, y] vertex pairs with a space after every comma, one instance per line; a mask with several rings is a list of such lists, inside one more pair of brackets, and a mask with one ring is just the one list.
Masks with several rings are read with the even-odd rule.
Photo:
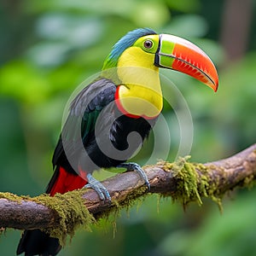
[[119, 207], [130, 206], [132, 201], [150, 193], [170, 195], [183, 205], [190, 201], [201, 204], [202, 197], [209, 197], [220, 207], [226, 192], [236, 187], [251, 187], [255, 183], [256, 144], [225, 160], [198, 164], [190, 163], [188, 159], [184, 157], [174, 163], [161, 161], [154, 166], [144, 166], [150, 183], [149, 192], [136, 172], [108, 178], [102, 183], [112, 197], [111, 205], [100, 201], [91, 189], [33, 198], [0, 193], [0, 228], [44, 229], [61, 238], [60, 234], [72, 235], [78, 225], [88, 227], [96, 218]]

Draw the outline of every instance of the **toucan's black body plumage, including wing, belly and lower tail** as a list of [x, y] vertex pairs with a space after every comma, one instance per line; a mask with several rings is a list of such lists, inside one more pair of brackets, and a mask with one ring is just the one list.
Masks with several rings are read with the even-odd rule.
[[[67, 121], [56, 145], [52, 163], [55, 173], [46, 193], [51, 193], [63, 167], [74, 176], [101, 167], [115, 167], [128, 160], [148, 137], [155, 119], [131, 118], [116, 105], [117, 86], [109, 79], [97, 79], [73, 99]], [[61, 246], [41, 230], [26, 230], [17, 254], [56, 255]]]

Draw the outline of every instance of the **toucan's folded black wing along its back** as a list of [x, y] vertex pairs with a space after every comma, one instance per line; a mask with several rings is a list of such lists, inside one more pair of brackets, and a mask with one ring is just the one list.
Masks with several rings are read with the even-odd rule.
[[[73, 99], [67, 121], [53, 155], [53, 166], [61, 165], [73, 172], [67, 160], [67, 154], [79, 154], [94, 131], [96, 119], [102, 108], [114, 100], [116, 85], [108, 79], [97, 79], [86, 86]], [[82, 143], [81, 142], [82, 137]], [[65, 151], [63, 144], [65, 143]]]

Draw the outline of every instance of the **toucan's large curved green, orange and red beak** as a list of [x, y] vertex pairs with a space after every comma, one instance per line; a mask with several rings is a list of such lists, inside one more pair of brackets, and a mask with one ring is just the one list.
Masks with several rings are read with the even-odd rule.
[[160, 34], [154, 65], [189, 74], [218, 90], [218, 73], [208, 55], [191, 42], [168, 34]]

